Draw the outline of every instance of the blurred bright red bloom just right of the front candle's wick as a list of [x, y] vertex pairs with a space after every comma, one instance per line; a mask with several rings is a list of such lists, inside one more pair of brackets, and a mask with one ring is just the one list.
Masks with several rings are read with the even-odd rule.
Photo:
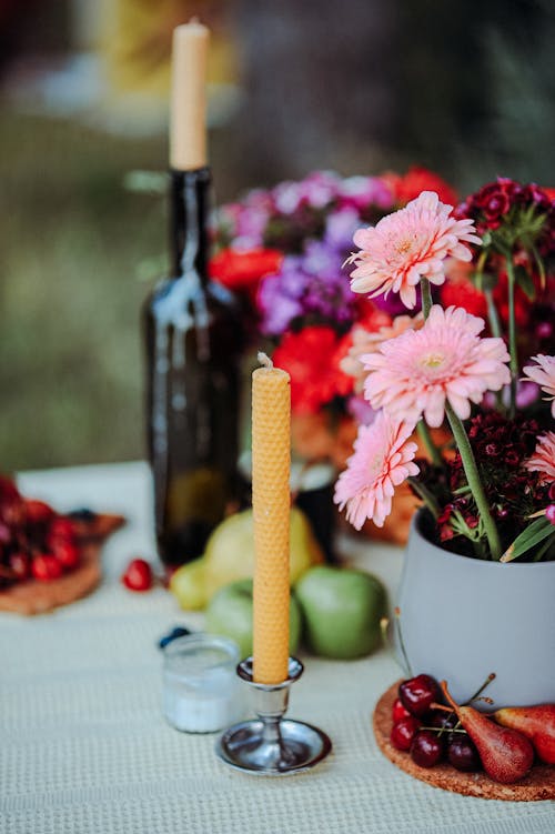
[[291, 408], [315, 414], [335, 396], [353, 391], [353, 380], [339, 368], [340, 339], [333, 328], [314, 325], [285, 333], [273, 354], [274, 364], [291, 375]]

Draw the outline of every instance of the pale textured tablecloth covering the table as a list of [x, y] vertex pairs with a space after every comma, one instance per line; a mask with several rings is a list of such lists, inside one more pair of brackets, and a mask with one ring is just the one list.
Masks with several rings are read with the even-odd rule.
[[[127, 591], [134, 555], [154, 559], [144, 463], [23, 473], [28, 495], [57, 509], [121, 512], [91, 596], [39, 617], [0, 616], [0, 831], [7, 834], [512, 834], [555, 831], [549, 802], [446, 793], [386, 761], [374, 742], [376, 700], [401, 672], [385, 652], [352, 662], [303, 656], [290, 715], [327, 732], [332, 755], [286, 778], [246, 776], [214, 754], [214, 735], [172, 730], [161, 713], [157, 641], [202, 627], [162, 589]], [[360, 540], [354, 564], [394, 591], [400, 549]]]

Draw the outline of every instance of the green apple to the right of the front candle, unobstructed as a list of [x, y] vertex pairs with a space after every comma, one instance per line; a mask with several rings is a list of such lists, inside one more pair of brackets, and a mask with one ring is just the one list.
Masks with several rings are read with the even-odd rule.
[[352, 660], [380, 643], [385, 589], [375, 576], [349, 567], [316, 565], [295, 586], [306, 647], [314, 654]]

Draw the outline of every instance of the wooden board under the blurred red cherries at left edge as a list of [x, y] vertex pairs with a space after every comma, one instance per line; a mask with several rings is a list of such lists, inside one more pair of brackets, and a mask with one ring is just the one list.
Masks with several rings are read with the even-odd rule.
[[79, 565], [50, 582], [31, 579], [2, 589], [0, 611], [27, 616], [46, 614], [90, 594], [102, 579], [102, 545], [108, 536], [124, 523], [123, 516], [108, 514], [97, 514], [91, 520], [75, 522], [81, 547]]

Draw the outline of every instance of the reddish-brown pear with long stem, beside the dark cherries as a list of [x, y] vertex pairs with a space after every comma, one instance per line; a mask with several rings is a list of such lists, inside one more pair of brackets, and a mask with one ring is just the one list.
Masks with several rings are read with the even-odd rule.
[[517, 730], [500, 726], [473, 706], [456, 704], [445, 681], [442, 681], [442, 692], [476, 745], [490, 778], [506, 785], [523, 778], [534, 762], [534, 748], [526, 736]]

